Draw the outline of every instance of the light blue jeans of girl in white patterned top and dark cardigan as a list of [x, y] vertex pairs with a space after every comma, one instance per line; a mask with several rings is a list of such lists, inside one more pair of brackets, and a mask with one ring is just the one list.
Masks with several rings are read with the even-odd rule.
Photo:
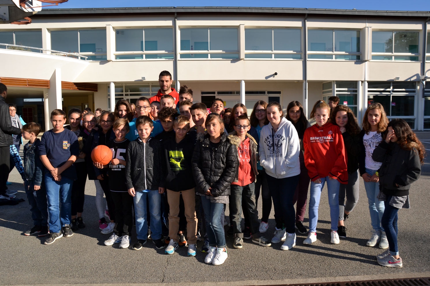
[[[375, 172], [376, 170], [366, 168], [366, 173], [368, 173], [370, 176], [373, 176]], [[372, 222], [372, 228], [375, 231], [383, 231], [381, 227], [381, 219], [384, 215], [385, 207], [384, 201], [378, 200], [379, 182], [364, 182], [364, 188], [366, 189], [367, 200], [369, 201], [370, 221]]]

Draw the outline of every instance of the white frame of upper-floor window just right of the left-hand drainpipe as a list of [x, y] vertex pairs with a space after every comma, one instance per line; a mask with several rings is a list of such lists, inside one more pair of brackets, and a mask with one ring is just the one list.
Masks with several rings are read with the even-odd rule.
[[[179, 43], [181, 42], [181, 30], [182, 29], [207, 29], [208, 32], [208, 50], [193, 50], [193, 51], [182, 51], [180, 48], [178, 49], [179, 58], [180, 61], [198, 61], [198, 60], [223, 60], [223, 61], [234, 61], [234, 60], [240, 60], [240, 29], [237, 26], [181, 26], [179, 27], [179, 33], [178, 33], [178, 40]], [[211, 50], [210, 49], [210, 29], [236, 29], [237, 30], [237, 50]], [[182, 58], [181, 55], [206, 55], [208, 54], [207, 58]], [[237, 58], [212, 58], [211, 55], [213, 54], [224, 54], [224, 55], [237, 55]]]

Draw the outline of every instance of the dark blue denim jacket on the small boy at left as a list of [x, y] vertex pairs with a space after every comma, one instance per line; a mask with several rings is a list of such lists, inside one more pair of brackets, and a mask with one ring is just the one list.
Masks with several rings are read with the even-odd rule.
[[24, 146], [25, 179], [34, 181], [34, 185], [36, 186], [42, 184], [43, 170], [45, 169], [42, 161], [40, 161], [39, 143], [40, 140], [37, 138], [32, 146], [30, 146], [30, 143]]

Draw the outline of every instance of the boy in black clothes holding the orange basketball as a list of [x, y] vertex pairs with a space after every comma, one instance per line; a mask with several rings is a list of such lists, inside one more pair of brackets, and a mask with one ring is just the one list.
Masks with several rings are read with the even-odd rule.
[[109, 189], [111, 198], [115, 204], [115, 226], [114, 233], [104, 245], [110, 246], [114, 243], [120, 243], [120, 248], [128, 248], [130, 245], [130, 232], [133, 227], [132, 204], [133, 198], [129, 196], [127, 187], [124, 184], [126, 180], [126, 151], [130, 141], [126, 138], [129, 132], [129, 123], [126, 119], [120, 118], [114, 122], [113, 131], [115, 139], [110, 140], [107, 146], [112, 151], [112, 161], [105, 166], [100, 163], [94, 163], [98, 168], [108, 167]]

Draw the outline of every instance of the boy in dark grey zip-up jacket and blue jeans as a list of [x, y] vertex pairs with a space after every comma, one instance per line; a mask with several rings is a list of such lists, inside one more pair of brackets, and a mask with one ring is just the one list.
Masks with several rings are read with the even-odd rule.
[[162, 148], [159, 140], [151, 137], [154, 128], [153, 121], [148, 116], [139, 116], [136, 120], [139, 137], [130, 142], [127, 148], [126, 185], [133, 197], [136, 216], [136, 234], [138, 241], [133, 249], [139, 250], [147, 240], [147, 210], [151, 216], [151, 238], [157, 249], [163, 249], [165, 244], [161, 240], [161, 186], [164, 179], [162, 162]]

